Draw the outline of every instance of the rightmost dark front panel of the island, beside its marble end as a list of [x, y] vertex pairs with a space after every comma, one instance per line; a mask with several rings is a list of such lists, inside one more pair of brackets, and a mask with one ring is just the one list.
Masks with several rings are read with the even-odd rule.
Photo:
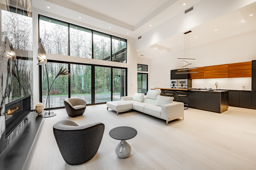
[[206, 93], [206, 109], [212, 112], [218, 112], [221, 107], [221, 93]]

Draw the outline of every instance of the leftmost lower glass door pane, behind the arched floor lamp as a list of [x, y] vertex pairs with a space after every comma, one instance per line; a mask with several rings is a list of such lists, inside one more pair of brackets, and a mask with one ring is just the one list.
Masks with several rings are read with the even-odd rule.
[[[52, 88], [50, 89], [50, 108], [63, 107], [64, 99], [69, 98], [69, 77], [59, 76], [54, 81], [61, 67], [63, 67], [62, 68], [63, 70], [64, 69], [69, 70], [68, 64], [47, 62], [49, 86], [52, 85]], [[45, 66], [42, 66], [42, 103], [45, 106], [46, 106], [47, 95], [48, 95], [48, 83], [47, 83], [46, 68]], [[47, 106], [45, 108], [49, 108], [48, 101], [47, 101]]]

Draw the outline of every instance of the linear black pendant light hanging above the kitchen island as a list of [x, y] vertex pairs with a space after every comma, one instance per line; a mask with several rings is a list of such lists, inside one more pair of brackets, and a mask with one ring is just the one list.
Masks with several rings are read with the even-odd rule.
[[178, 58], [178, 59], [182, 59], [184, 62], [184, 66], [182, 67], [183, 69], [178, 69], [177, 71], [183, 71], [183, 72], [176, 72], [176, 74], [189, 74], [189, 73], [198, 73], [198, 71], [195, 72], [185, 72], [185, 70], [189, 70], [189, 69], [195, 69], [197, 67], [194, 68], [185, 68], [186, 66], [190, 66], [192, 63], [189, 63], [189, 60], [195, 60], [195, 58], [189, 58], [189, 33], [191, 33], [192, 31], [187, 31], [186, 33], [184, 33], [184, 58]]

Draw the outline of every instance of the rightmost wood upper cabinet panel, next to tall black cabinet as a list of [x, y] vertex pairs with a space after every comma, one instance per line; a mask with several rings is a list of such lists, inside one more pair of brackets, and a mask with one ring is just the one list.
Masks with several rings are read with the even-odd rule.
[[228, 64], [228, 78], [252, 77], [252, 62]]

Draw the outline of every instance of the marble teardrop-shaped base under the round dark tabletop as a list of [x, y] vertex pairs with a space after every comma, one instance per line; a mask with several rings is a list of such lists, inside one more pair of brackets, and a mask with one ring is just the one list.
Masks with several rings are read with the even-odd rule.
[[126, 158], [132, 152], [132, 148], [130, 144], [128, 144], [125, 140], [122, 140], [117, 147], [115, 148], [115, 153], [118, 157]]

